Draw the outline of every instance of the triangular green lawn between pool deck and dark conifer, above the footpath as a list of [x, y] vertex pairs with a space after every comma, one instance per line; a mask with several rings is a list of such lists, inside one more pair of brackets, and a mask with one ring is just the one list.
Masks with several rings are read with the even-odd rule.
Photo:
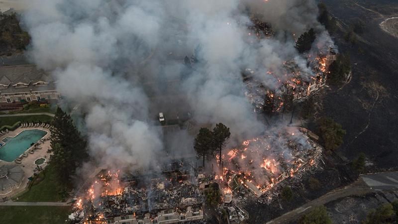
[[60, 202], [63, 197], [60, 194], [60, 184], [52, 165], [38, 174], [31, 183], [30, 189], [18, 197], [19, 202]]

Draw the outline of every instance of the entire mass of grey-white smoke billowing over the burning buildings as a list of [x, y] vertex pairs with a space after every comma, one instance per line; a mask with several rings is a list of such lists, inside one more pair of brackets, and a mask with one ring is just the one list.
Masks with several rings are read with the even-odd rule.
[[[234, 137], [263, 132], [266, 126], [243, 94], [242, 69], [278, 74], [292, 59], [307, 69], [292, 34], [310, 27], [321, 30], [314, 0], [27, 4], [31, 7], [24, 22], [32, 36], [31, 58], [54, 74], [63, 98], [85, 115], [93, 158], [118, 168], [152, 167], [166, 157], [163, 133], [153, 124], [157, 112], [170, 109], [165, 101], [174, 101], [169, 107], [177, 111], [191, 111], [199, 123], [223, 122]], [[248, 40], [250, 10], [278, 31], [274, 39]], [[187, 72], [184, 57], [196, 54], [195, 48], [200, 60]], [[270, 88], [278, 82], [261, 80]], [[188, 101], [183, 106], [178, 105], [181, 96]], [[178, 147], [179, 140], [168, 140]], [[192, 144], [192, 139], [186, 142]], [[192, 150], [183, 147], [179, 150]]]

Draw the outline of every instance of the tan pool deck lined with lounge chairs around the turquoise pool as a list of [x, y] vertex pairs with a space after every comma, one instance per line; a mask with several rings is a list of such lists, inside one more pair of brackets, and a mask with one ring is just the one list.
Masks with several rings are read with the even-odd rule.
[[[9, 131], [8, 133], [6, 133], [3, 136], [1, 136], [0, 137], [0, 141], [2, 141], [6, 137], [15, 137], [16, 135], [18, 135], [20, 132], [22, 132], [24, 130], [33, 130], [33, 129], [46, 131], [47, 134], [44, 135], [42, 138], [46, 138], [47, 139], [51, 135], [51, 132], [50, 132], [50, 130], [48, 128], [43, 128], [43, 127], [24, 127], [24, 128], [22, 128], [22, 127], [18, 127], [15, 130]], [[36, 159], [39, 159], [39, 158], [45, 158], [46, 159], [46, 162], [41, 165], [43, 168], [47, 164], [47, 162], [48, 162], [48, 160], [50, 158], [50, 155], [51, 155], [51, 153], [47, 153], [47, 150], [49, 148], [51, 148], [50, 142], [51, 142], [50, 140], [45, 140], [44, 143], [41, 143], [39, 145], [41, 147], [41, 149], [34, 150], [33, 154], [28, 153], [29, 150], [32, 149], [32, 147], [27, 149], [25, 152], [28, 154], [28, 157], [22, 157], [21, 164], [16, 164], [14, 161], [6, 162], [6, 161], [3, 161], [3, 160], [0, 160], [0, 166], [1, 165], [6, 165], [6, 164], [12, 164], [12, 165], [16, 164], [16, 165], [18, 165], [18, 166], [20, 166], [22, 168], [23, 172], [25, 172], [25, 176], [24, 176], [24, 179], [22, 181], [21, 186], [18, 189], [14, 189], [9, 194], [1, 195], [1, 198], [3, 198], [3, 197], [8, 197], [9, 198], [9, 197], [17, 195], [20, 192], [25, 190], [25, 188], [27, 187], [27, 184], [29, 182], [28, 177], [33, 175], [33, 173], [35, 172], [34, 169], [37, 167], [37, 165], [35, 164]]]

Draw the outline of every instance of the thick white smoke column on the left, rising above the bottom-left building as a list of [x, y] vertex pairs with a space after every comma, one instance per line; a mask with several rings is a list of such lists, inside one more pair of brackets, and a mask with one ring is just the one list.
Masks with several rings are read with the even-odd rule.
[[113, 69], [127, 51], [131, 61], [145, 56], [136, 51], [138, 42], [148, 48], [157, 44], [160, 25], [153, 8], [145, 1], [29, 3], [24, 20], [32, 36], [32, 58], [41, 68], [55, 69], [63, 98], [85, 113], [91, 156], [109, 168], [154, 166], [163, 145], [161, 133], [147, 122], [148, 99]]

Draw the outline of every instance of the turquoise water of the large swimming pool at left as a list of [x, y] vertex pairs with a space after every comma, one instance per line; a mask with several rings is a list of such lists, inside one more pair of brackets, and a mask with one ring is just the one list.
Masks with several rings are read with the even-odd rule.
[[6, 144], [0, 148], [0, 159], [7, 162], [14, 161], [30, 147], [32, 142], [36, 143], [46, 134], [46, 131], [34, 129], [24, 130], [13, 138], [6, 137], [4, 139]]

